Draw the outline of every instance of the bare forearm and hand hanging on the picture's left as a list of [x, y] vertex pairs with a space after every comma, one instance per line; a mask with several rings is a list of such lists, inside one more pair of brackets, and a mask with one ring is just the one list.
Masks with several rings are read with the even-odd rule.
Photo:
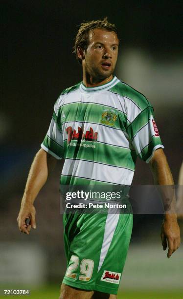
[[[22, 233], [29, 235], [31, 227], [36, 228], [36, 210], [33, 203], [45, 185], [48, 174], [54, 169], [56, 162], [57, 160], [44, 149], [40, 149], [33, 160], [17, 218], [19, 229]], [[26, 224], [26, 219], [30, 219], [29, 224]]]

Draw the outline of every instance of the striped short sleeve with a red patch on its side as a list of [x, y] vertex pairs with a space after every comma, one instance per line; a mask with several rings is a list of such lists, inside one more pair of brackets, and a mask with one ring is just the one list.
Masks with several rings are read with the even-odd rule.
[[153, 108], [150, 106], [136, 116], [127, 132], [137, 156], [146, 163], [149, 163], [156, 149], [164, 148], [154, 120]]

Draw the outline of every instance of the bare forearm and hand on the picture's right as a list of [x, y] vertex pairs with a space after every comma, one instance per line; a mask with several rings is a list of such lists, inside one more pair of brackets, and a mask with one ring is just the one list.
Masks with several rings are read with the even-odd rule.
[[[173, 177], [162, 149], [155, 150], [149, 165], [154, 176], [155, 184], [174, 185]], [[164, 220], [161, 227], [161, 241], [163, 250], [166, 250], [168, 242], [167, 257], [169, 258], [180, 246], [180, 229], [175, 212], [174, 189], [170, 189], [168, 186], [167, 188], [162, 187], [161, 195], [165, 207]]]

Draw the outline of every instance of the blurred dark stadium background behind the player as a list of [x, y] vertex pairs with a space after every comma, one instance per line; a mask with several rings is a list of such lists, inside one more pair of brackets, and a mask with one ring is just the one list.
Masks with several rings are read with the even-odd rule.
[[[62, 161], [36, 200], [37, 230], [29, 236], [20, 234], [16, 218], [53, 105], [64, 88], [82, 80], [81, 67], [71, 54], [76, 26], [104, 16], [117, 24], [121, 47], [115, 74], [153, 105], [177, 184], [183, 160], [183, 2], [2, 0], [1, 4], [0, 295], [3, 287], [27, 287], [30, 298], [58, 298], [66, 271], [59, 213]], [[133, 184], [152, 183], [148, 166], [137, 161]], [[183, 244], [167, 259], [160, 242], [161, 221], [162, 215], [134, 215], [119, 299], [183, 298]], [[180, 226], [183, 235], [183, 220]]]

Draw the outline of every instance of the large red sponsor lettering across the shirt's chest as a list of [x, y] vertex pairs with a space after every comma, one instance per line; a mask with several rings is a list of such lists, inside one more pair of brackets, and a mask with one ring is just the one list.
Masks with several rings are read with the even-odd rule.
[[72, 129], [72, 127], [66, 128], [68, 135], [68, 144], [71, 140], [86, 140], [86, 141], [97, 141], [98, 132], [93, 132], [92, 127], [89, 131], [83, 132], [82, 128], [78, 127], [78, 131]]

